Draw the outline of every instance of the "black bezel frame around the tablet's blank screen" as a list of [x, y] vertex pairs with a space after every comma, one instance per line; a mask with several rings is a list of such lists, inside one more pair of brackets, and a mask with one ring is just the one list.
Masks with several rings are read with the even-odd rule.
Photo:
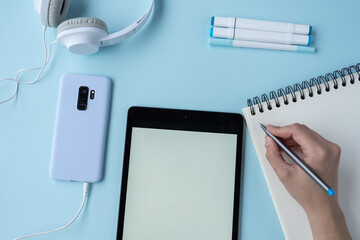
[[148, 108], [148, 107], [131, 107], [128, 111], [116, 239], [117, 240], [123, 239], [131, 135], [132, 135], [133, 127], [200, 131], [200, 132], [213, 132], [213, 133], [230, 133], [237, 135], [233, 226], [232, 226], [232, 240], [237, 240], [239, 234], [240, 182], [241, 182], [241, 172], [242, 172], [241, 158], [242, 158], [242, 146], [243, 146], [242, 144], [243, 117], [240, 114], [236, 114], [236, 113], [219, 113], [219, 112], [175, 110], [175, 109]]

